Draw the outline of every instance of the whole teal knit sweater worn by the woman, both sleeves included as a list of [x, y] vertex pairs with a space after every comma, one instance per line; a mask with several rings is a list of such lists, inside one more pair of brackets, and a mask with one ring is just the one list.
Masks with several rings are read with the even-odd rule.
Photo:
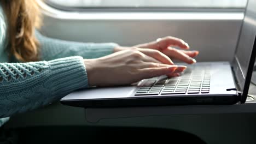
[[51, 104], [88, 87], [83, 58], [109, 55], [114, 43], [78, 43], [44, 37], [38, 31], [39, 62], [9, 62], [7, 20], [0, 5], [0, 126], [15, 113]]

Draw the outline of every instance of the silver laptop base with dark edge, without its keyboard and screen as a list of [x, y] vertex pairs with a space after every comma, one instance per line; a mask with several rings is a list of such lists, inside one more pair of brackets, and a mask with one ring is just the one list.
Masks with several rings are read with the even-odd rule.
[[[183, 64], [183, 63], [182, 63]], [[61, 99], [61, 103], [77, 107], [127, 107], [160, 105], [200, 105], [200, 104], [235, 104], [240, 100], [236, 91], [236, 81], [229, 62], [197, 62], [187, 65], [206, 69], [211, 74], [209, 93], [135, 95], [144, 80], [132, 86], [96, 87], [79, 89]], [[163, 79], [165, 76], [162, 76]]]

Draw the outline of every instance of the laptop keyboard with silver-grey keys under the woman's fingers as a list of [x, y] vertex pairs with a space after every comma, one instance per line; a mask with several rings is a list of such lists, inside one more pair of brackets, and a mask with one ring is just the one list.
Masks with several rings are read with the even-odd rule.
[[[210, 68], [188, 69], [178, 77], [145, 80], [135, 95], [205, 94], [210, 93]], [[193, 71], [193, 72], [192, 72]]]

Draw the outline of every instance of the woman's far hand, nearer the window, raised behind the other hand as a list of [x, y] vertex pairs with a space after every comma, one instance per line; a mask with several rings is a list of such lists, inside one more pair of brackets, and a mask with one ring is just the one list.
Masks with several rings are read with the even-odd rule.
[[[183, 50], [175, 49], [172, 46], [177, 46]], [[150, 43], [135, 45], [134, 47], [157, 50], [164, 53], [171, 59], [177, 59], [188, 64], [195, 63], [196, 60], [194, 59], [194, 57], [199, 54], [199, 51], [187, 51], [189, 50], [189, 45], [185, 43], [184, 40], [175, 37], [160, 38]], [[114, 51], [126, 49], [127, 47], [116, 47]]]

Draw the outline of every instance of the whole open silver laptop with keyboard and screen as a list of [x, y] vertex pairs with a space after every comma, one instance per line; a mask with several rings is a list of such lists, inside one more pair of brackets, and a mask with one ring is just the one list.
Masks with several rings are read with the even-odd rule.
[[187, 65], [178, 77], [162, 75], [130, 86], [79, 89], [60, 101], [64, 105], [88, 108], [243, 104], [247, 99], [256, 55], [254, 6], [256, 1], [247, 3], [232, 62], [197, 62]]

